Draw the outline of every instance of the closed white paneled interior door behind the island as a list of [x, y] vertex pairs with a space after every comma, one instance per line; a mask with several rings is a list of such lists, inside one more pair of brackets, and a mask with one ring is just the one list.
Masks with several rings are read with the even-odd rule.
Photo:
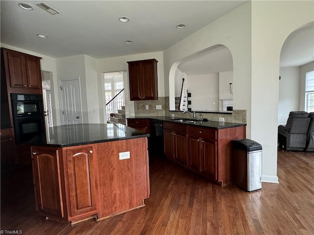
[[61, 80], [63, 124], [82, 123], [79, 80]]

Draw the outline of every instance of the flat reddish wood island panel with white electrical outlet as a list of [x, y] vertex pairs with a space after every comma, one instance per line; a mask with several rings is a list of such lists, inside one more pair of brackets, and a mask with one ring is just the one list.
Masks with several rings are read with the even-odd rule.
[[[147, 138], [98, 143], [97, 152], [102, 153], [97, 158], [98, 218], [144, 206], [150, 195]], [[121, 152], [130, 158], [121, 159]]]

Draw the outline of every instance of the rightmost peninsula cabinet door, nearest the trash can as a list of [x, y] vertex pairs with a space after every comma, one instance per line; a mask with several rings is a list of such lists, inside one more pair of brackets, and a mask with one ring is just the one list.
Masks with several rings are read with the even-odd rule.
[[203, 171], [211, 179], [217, 180], [216, 141], [201, 139], [203, 152]]

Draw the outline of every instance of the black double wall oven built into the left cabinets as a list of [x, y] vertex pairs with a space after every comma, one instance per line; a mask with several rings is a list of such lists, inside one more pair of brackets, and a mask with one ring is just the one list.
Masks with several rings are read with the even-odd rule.
[[11, 94], [15, 142], [27, 142], [44, 131], [41, 94]]

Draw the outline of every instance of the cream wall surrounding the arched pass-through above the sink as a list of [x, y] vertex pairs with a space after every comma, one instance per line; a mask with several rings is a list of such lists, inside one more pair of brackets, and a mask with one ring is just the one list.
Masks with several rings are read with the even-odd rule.
[[[234, 109], [247, 110], [251, 135], [251, 3], [247, 2], [164, 51], [165, 95], [174, 97], [174, 73], [186, 57], [214, 45], [228, 47], [234, 66]], [[175, 65], [174, 65], [175, 63]], [[170, 107], [174, 100], [170, 98]]]

